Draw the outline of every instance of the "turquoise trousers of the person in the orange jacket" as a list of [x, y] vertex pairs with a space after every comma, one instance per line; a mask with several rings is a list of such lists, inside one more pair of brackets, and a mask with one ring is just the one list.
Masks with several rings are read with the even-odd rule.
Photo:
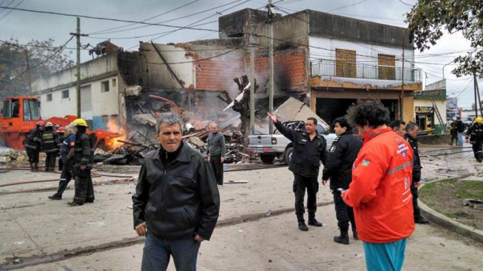
[[404, 262], [406, 238], [391, 243], [362, 242], [368, 271], [400, 271]]

